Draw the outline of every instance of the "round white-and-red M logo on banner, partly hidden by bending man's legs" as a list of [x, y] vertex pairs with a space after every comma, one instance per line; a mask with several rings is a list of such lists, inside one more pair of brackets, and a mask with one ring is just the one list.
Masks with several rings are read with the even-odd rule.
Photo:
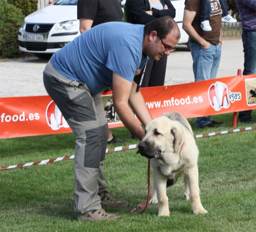
[[53, 131], [57, 131], [62, 127], [69, 127], [58, 106], [53, 101], [50, 102], [46, 108], [46, 120], [47, 124]]

